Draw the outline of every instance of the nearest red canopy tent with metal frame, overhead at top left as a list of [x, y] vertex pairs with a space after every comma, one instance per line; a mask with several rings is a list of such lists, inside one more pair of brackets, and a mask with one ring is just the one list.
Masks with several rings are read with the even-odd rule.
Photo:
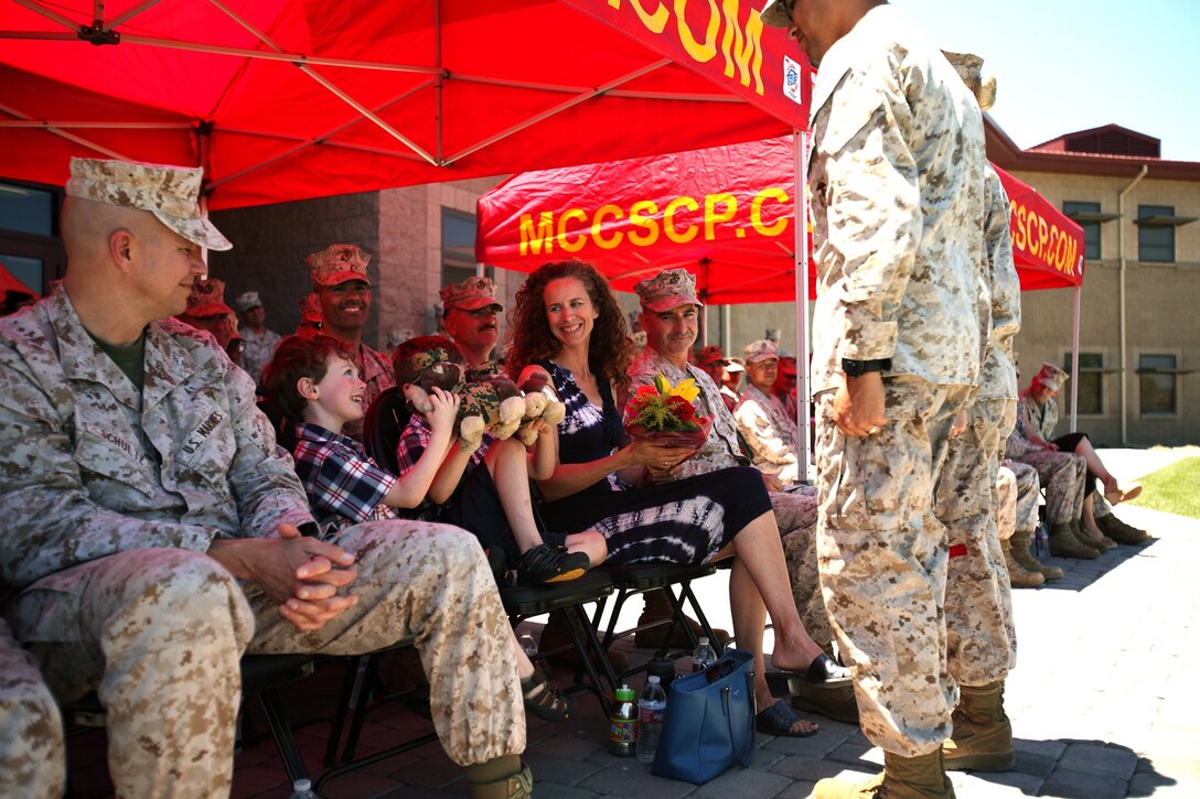
[[751, 2], [0, 0], [0, 176], [202, 166], [229, 209], [803, 128]]

